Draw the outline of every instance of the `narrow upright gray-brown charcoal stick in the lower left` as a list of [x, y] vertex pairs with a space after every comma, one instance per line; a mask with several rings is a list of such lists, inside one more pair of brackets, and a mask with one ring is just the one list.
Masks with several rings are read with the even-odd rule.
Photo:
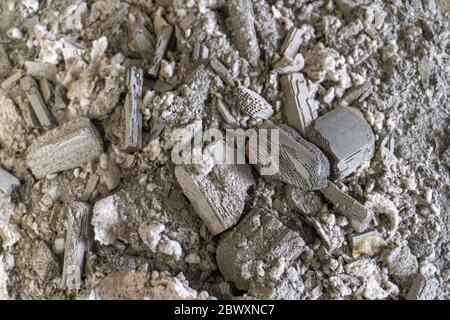
[[67, 212], [67, 233], [62, 272], [62, 286], [70, 290], [81, 288], [86, 254], [92, 247], [90, 231], [91, 206], [73, 202]]

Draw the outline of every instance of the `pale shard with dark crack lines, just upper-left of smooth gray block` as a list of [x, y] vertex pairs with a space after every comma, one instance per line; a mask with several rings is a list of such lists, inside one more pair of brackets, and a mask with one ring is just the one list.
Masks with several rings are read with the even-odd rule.
[[280, 78], [285, 97], [283, 108], [287, 123], [306, 137], [307, 129], [317, 118], [317, 106], [303, 74], [292, 73]]

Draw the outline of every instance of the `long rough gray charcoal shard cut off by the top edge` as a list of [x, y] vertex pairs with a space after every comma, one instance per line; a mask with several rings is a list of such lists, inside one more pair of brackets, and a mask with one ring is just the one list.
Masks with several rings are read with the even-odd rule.
[[256, 66], [261, 52], [256, 37], [252, 1], [230, 0], [227, 5], [236, 48], [252, 66]]

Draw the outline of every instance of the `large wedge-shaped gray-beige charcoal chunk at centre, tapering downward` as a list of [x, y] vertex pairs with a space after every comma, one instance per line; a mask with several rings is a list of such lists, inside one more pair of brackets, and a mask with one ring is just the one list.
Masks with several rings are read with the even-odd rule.
[[244, 210], [247, 190], [255, 183], [248, 165], [215, 165], [207, 175], [177, 166], [175, 176], [208, 230], [219, 234], [234, 226]]

